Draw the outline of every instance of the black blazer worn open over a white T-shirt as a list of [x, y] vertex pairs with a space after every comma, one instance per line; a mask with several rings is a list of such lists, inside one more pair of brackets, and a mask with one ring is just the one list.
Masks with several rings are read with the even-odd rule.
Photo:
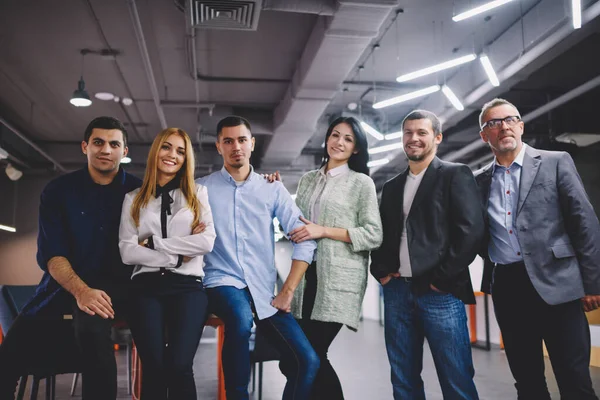
[[[407, 168], [383, 186], [379, 209], [383, 244], [371, 253], [371, 274], [376, 279], [400, 268], [402, 204], [408, 171]], [[406, 221], [417, 291], [427, 291], [433, 284], [464, 303], [475, 303], [469, 265], [484, 234], [479, 199], [473, 173], [466, 165], [435, 157], [427, 167]]]

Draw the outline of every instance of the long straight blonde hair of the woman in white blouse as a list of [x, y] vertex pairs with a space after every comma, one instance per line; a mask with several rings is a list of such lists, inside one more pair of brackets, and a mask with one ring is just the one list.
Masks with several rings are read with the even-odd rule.
[[186, 199], [188, 208], [194, 214], [194, 220], [192, 222], [192, 229], [194, 229], [200, 223], [200, 202], [196, 197], [196, 184], [194, 183], [194, 148], [192, 147], [192, 141], [189, 135], [179, 128], [167, 128], [160, 132], [154, 141], [150, 152], [148, 153], [148, 161], [146, 162], [146, 174], [144, 175], [144, 182], [142, 188], [135, 196], [133, 205], [131, 206], [131, 217], [135, 222], [135, 226], [140, 225], [140, 209], [146, 207], [150, 199], [156, 196], [156, 179], [158, 171], [158, 152], [162, 148], [167, 138], [173, 134], [179, 135], [185, 142], [185, 160], [181, 169], [177, 172], [177, 175], [173, 179], [179, 178], [179, 189]]

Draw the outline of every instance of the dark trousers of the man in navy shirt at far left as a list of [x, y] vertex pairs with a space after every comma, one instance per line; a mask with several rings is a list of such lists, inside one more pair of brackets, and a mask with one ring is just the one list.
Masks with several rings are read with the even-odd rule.
[[[123, 317], [126, 293], [107, 290], [117, 317]], [[82, 372], [84, 400], [117, 396], [117, 365], [111, 319], [79, 310], [73, 299], [73, 319], [63, 315], [19, 315], [0, 346], [0, 399], [12, 399], [21, 375]], [[77, 364], [80, 371], [75, 371]]]

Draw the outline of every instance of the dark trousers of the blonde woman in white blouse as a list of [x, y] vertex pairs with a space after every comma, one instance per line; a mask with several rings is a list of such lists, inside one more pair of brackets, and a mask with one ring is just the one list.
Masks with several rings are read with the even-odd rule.
[[194, 356], [208, 307], [202, 280], [166, 271], [133, 282], [129, 323], [142, 361], [141, 398], [195, 400]]

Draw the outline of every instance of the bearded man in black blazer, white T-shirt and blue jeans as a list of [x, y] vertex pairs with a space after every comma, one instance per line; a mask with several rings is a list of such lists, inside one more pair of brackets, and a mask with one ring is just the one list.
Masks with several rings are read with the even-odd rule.
[[383, 244], [371, 273], [383, 285], [394, 398], [424, 399], [427, 338], [444, 398], [477, 399], [464, 303], [475, 298], [469, 264], [483, 236], [471, 170], [436, 157], [441, 123], [425, 110], [402, 122], [408, 168], [383, 187]]

